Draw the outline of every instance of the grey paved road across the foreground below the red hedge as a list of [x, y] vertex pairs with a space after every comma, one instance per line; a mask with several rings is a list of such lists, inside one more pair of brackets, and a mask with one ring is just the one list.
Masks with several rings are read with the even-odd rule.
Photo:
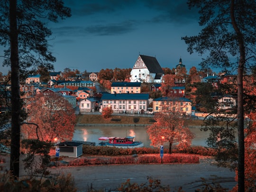
[[[9, 169], [9, 159], [5, 164], [0, 164]], [[204, 161], [200, 164], [150, 164], [150, 165], [97, 165], [56, 167], [50, 169], [52, 174], [71, 173], [78, 192], [88, 189], [114, 190], [121, 183], [130, 179], [131, 183], [146, 183], [147, 177], [161, 180], [162, 185], [169, 185], [174, 191], [180, 186], [185, 192], [194, 192], [202, 187], [201, 177], [212, 183], [216, 181], [225, 188], [232, 189], [236, 185], [235, 172], [228, 168], [210, 165]], [[26, 172], [20, 168], [20, 176]]]

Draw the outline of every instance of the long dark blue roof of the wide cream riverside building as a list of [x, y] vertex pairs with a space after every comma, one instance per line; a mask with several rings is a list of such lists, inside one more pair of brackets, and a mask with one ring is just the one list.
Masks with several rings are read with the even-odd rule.
[[101, 100], [148, 100], [148, 93], [120, 93], [120, 94], [103, 94]]

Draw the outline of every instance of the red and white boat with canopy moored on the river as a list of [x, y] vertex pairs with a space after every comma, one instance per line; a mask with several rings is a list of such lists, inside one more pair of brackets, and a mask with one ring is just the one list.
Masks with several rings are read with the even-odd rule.
[[[113, 146], [117, 148], [138, 148], [143, 147], [143, 142], [134, 141], [135, 137], [100, 137], [99, 146]], [[101, 142], [100, 142], [101, 141]]]

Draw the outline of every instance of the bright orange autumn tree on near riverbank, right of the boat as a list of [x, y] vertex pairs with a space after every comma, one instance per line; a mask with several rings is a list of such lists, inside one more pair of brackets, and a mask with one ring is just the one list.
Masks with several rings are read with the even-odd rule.
[[159, 146], [162, 143], [169, 143], [169, 154], [172, 153], [173, 144], [178, 148], [190, 146], [194, 138], [189, 128], [184, 126], [182, 118], [182, 105], [177, 101], [165, 102], [162, 110], [154, 116], [155, 123], [148, 126], [146, 131], [151, 140], [152, 146]]

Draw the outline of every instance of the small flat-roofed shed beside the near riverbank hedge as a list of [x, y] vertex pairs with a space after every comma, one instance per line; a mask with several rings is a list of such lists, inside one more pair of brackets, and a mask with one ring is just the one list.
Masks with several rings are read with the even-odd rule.
[[65, 141], [55, 147], [60, 149], [60, 156], [79, 157], [82, 155], [82, 144], [80, 142]]

